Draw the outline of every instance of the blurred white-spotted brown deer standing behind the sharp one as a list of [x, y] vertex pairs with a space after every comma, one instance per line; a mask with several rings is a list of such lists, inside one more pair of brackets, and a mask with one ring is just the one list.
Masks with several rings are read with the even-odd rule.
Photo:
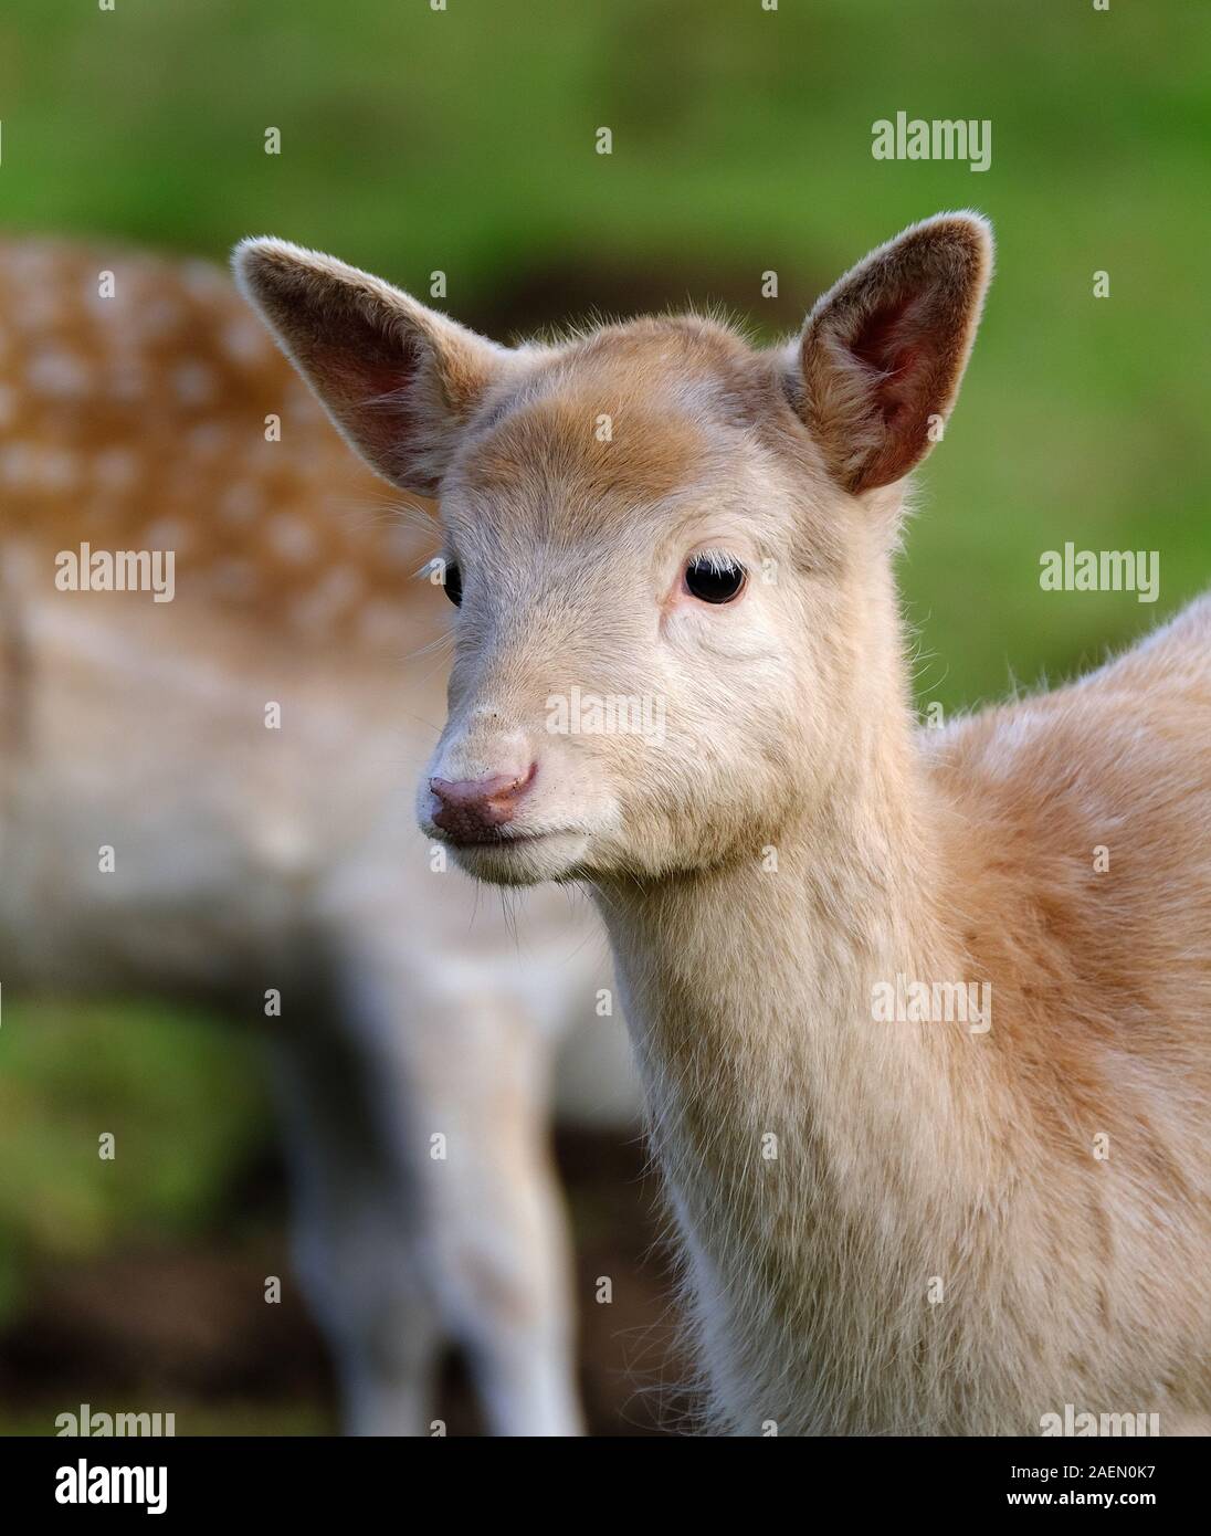
[[[430, 868], [406, 786], [450, 610], [389, 507], [217, 270], [0, 244], [0, 982], [243, 1020], [278, 992], [347, 1427], [426, 1433], [456, 1342], [493, 1432], [569, 1435], [553, 1049], [584, 1021], [581, 1107], [616, 1123], [625, 1049], [567, 895], [507, 923]], [[74, 590], [166, 554], [172, 601]]]

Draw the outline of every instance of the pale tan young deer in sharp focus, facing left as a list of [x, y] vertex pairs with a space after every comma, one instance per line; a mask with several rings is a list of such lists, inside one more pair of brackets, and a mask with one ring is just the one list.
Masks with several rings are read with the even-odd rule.
[[[352, 444], [440, 492], [420, 820], [481, 879], [595, 892], [719, 1430], [1211, 1415], [1211, 604], [913, 723], [904, 482], [991, 253], [976, 215], [917, 224], [770, 352], [701, 318], [503, 352], [326, 257], [237, 257]], [[664, 727], [564, 731], [572, 690]], [[994, 1008], [882, 1021], [901, 977]]]

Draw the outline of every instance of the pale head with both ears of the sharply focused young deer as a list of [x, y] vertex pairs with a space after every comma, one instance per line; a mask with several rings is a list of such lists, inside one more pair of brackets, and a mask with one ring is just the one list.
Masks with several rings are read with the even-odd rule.
[[902, 482], [974, 336], [977, 215], [874, 250], [771, 350], [698, 316], [504, 350], [280, 241], [235, 270], [367, 462], [440, 496], [455, 662], [418, 816], [470, 872], [751, 857], [902, 707]]

